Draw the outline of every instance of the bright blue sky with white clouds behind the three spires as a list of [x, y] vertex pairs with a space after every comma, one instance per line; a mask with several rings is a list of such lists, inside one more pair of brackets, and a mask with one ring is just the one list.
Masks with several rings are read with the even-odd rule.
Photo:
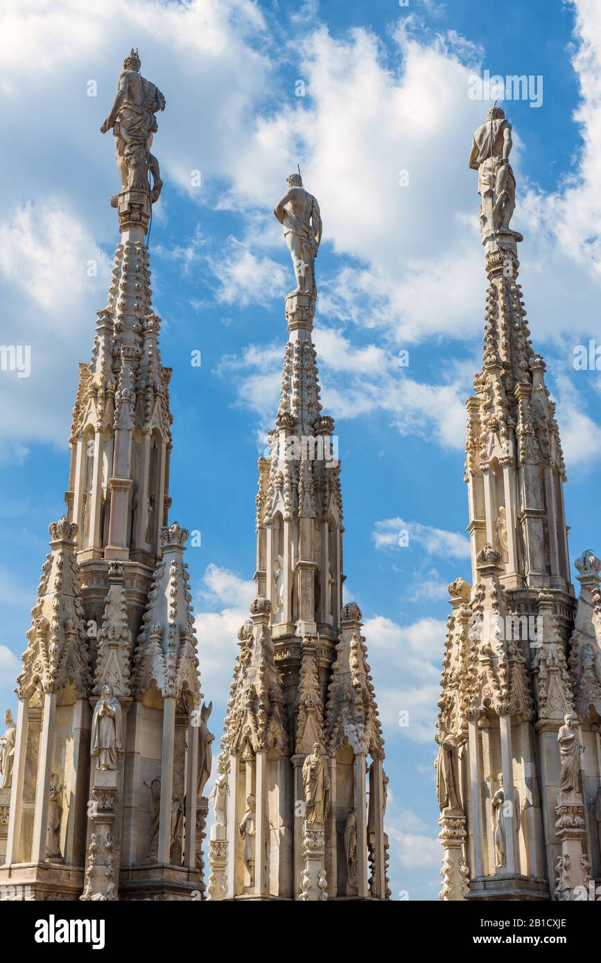
[[89, 360], [118, 243], [107, 203], [118, 185], [113, 139], [99, 126], [134, 45], [167, 97], [154, 143], [165, 188], [151, 265], [163, 362], [173, 368], [171, 518], [201, 532], [187, 555], [214, 731], [252, 596], [256, 460], [277, 406], [292, 287], [272, 209], [299, 163], [324, 218], [315, 342], [343, 465], [347, 598], [364, 614], [386, 737], [391, 888], [395, 898], [436, 898], [433, 721], [446, 586], [470, 579], [464, 402], [481, 364], [485, 295], [467, 159], [489, 104], [469, 99], [469, 78], [485, 69], [543, 77], [539, 108], [505, 105], [512, 226], [525, 237], [521, 283], [558, 401], [575, 558], [601, 548], [600, 381], [572, 363], [576, 345], [601, 337], [599, 8], [4, 5], [0, 340], [30, 345], [32, 369], [27, 378], [0, 372], [3, 705], [13, 704], [47, 525], [64, 510], [77, 363]]

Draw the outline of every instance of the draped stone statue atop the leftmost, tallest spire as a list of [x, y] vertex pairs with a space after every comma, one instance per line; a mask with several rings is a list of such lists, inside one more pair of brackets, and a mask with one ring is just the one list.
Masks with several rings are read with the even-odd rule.
[[[140, 73], [138, 51], [132, 51], [123, 61], [119, 74], [118, 91], [111, 113], [100, 128], [102, 134], [113, 130], [116, 138], [117, 169], [121, 188], [149, 193], [150, 200], [158, 200], [163, 187], [159, 162], [150, 153], [152, 136], [158, 130], [157, 111], [165, 110], [165, 97], [154, 84]], [[152, 190], [148, 187], [148, 171], [152, 174]], [[118, 195], [111, 197], [111, 206], [118, 206]]]

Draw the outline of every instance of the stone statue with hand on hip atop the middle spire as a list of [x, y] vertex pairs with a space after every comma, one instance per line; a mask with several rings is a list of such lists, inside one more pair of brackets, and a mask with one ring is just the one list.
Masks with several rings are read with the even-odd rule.
[[274, 215], [284, 227], [286, 244], [297, 278], [294, 294], [317, 296], [315, 258], [322, 240], [322, 217], [319, 204], [303, 186], [300, 174], [286, 178], [288, 190], [274, 207]]

